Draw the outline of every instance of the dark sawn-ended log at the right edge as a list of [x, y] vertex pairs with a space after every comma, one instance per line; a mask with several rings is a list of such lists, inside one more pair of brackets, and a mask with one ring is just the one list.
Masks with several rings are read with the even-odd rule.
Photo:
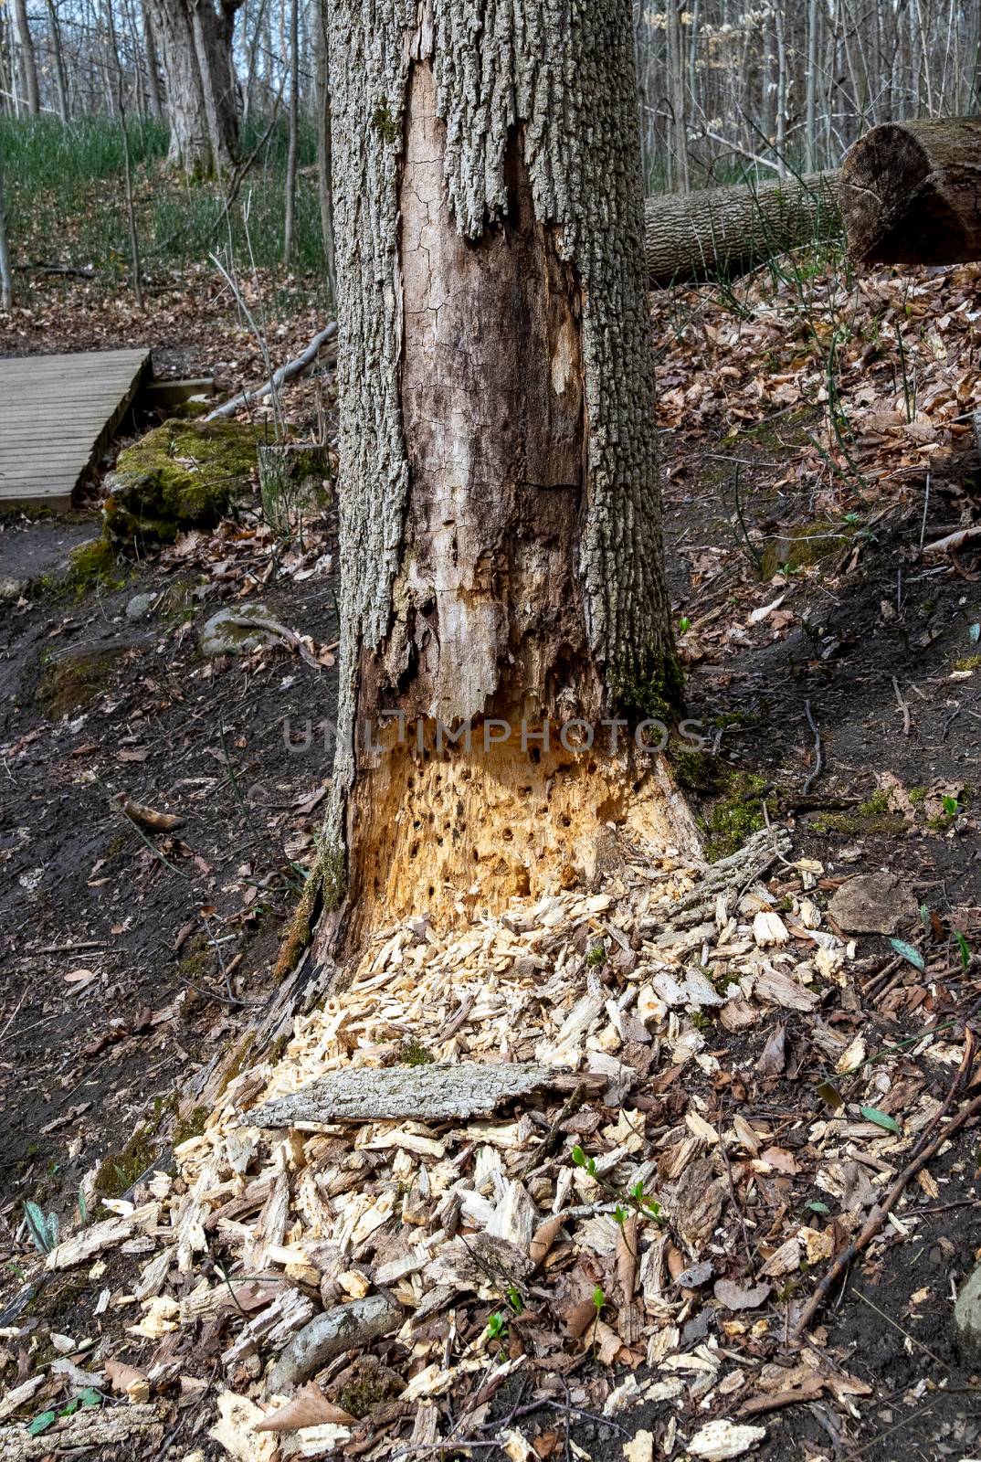
[[981, 259], [981, 118], [883, 123], [849, 149], [841, 208], [864, 263]]

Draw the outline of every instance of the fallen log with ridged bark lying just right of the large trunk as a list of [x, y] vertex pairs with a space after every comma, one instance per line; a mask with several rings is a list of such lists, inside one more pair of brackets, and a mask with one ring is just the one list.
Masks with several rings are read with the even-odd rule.
[[757, 187], [713, 187], [684, 197], [662, 194], [645, 203], [645, 257], [649, 285], [730, 278], [810, 238], [841, 232], [838, 173]]

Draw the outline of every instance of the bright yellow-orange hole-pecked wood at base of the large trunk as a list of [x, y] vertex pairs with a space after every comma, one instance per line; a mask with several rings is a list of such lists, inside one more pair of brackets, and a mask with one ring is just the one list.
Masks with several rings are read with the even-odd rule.
[[[664, 768], [610, 756], [608, 730], [596, 728], [594, 744], [604, 750], [589, 754], [564, 750], [556, 727], [541, 750], [532, 740], [539, 725], [528, 725], [522, 750], [520, 727], [496, 744], [504, 724], [488, 721], [472, 730], [469, 751], [444, 740], [439, 754], [430, 724], [420, 756], [420, 725], [406, 728], [405, 743], [395, 727], [386, 731], [386, 750], [364, 766], [351, 798], [355, 944], [382, 911], [386, 920], [425, 914], [447, 927], [477, 909], [500, 911], [516, 895], [591, 885], [620, 858], [620, 841], [697, 846]], [[569, 728], [570, 746], [577, 734]]]

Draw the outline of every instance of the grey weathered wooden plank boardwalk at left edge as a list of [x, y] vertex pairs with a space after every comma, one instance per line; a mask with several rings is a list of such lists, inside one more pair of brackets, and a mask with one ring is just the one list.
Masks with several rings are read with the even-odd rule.
[[148, 363], [149, 351], [0, 360], [0, 509], [70, 507]]

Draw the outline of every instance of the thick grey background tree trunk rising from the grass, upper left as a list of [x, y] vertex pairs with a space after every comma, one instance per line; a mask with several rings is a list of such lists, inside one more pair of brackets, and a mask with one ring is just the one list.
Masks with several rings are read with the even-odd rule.
[[168, 162], [187, 174], [230, 171], [238, 148], [232, 35], [241, 0], [149, 0], [164, 60]]

